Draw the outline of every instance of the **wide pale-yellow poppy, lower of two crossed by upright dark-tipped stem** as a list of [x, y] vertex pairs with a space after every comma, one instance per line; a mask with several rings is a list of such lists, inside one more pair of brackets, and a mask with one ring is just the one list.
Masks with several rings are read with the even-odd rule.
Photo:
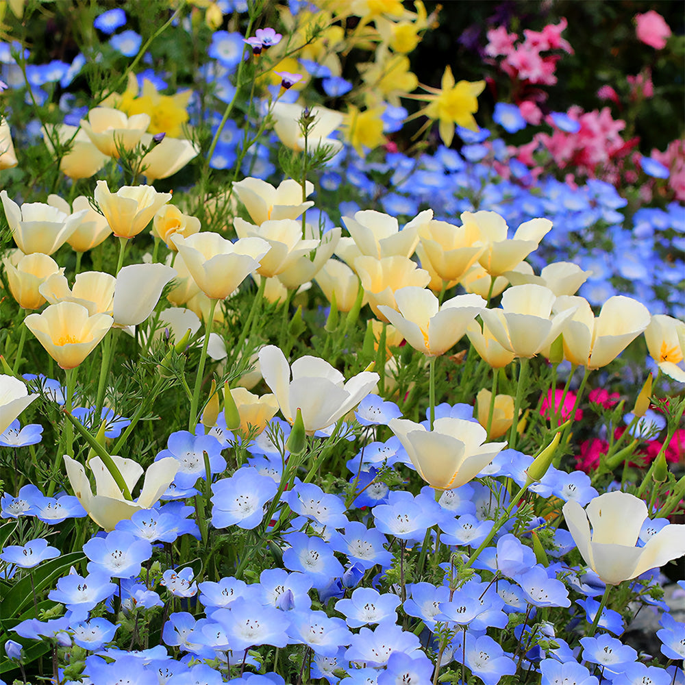
[[[302, 201], [302, 186], [291, 178], [274, 188], [260, 178], [247, 177], [234, 183], [233, 188], [257, 225], [270, 219], [297, 219], [302, 212], [314, 206], [312, 200]], [[305, 190], [306, 195], [311, 195], [314, 184], [308, 181]]]

